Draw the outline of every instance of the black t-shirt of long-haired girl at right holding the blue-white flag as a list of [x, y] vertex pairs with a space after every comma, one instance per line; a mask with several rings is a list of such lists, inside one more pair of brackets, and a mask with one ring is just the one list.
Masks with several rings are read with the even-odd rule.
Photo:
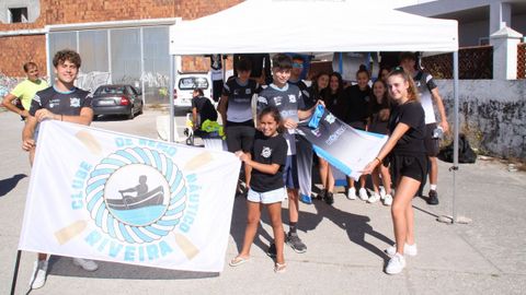
[[400, 138], [392, 149], [395, 155], [425, 154], [425, 120], [424, 109], [419, 102], [408, 102], [396, 105], [389, 117], [389, 131], [392, 134], [398, 123], [403, 122], [410, 129]]

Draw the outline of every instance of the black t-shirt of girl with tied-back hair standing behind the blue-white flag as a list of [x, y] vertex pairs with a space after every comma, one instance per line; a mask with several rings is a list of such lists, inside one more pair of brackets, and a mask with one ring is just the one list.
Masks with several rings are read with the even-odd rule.
[[347, 99], [347, 111], [345, 122], [366, 122], [369, 110], [370, 88], [367, 86], [364, 91], [358, 85], [353, 85], [345, 90]]

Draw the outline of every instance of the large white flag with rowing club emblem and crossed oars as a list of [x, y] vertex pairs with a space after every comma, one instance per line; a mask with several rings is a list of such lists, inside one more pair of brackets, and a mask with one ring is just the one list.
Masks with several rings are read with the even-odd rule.
[[19, 249], [221, 271], [240, 165], [231, 153], [45, 121]]

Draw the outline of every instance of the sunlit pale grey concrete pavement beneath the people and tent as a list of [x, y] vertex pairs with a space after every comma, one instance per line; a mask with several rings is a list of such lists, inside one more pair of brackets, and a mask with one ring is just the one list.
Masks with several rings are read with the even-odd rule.
[[[133, 121], [110, 119], [94, 127], [156, 138], [155, 118], [145, 111]], [[181, 122], [182, 118], [179, 118]], [[0, 294], [9, 294], [22, 226], [30, 167], [21, 150], [22, 122], [0, 113]], [[419, 255], [399, 275], [387, 275], [382, 250], [393, 243], [389, 208], [335, 196], [333, 206], [300, 204], [299, 235], [308, 246], [288, 246], [284, 274], [273, 272], [265, 255], [272, 229], [265, 216], [252, 259], [221, 273], [193, 273], [100, 262], [93, 273], [53, 257], [46, 285], [30, 294], [525, 294], [526, 174], [510, 173], [499, 161], [461, 165], [457, 173], [457, 212], [473, 220], [443, 224], [451, 214], [453, 175], [441, 163], [441, 204], [413, 201]], [[427, 190], [425, 190], [427, 191]], [[286, 203], [284, 203], [286, 208]], [[288, 214], [284, 210], [284, 220]], [[237, 255], [245, 225], [244, 199], [233, 208], [225, 261]], [[288, 226], [285, 226], [288, 229]], [[35, 255], [23, 252], [16, 294], [26, 294]]]

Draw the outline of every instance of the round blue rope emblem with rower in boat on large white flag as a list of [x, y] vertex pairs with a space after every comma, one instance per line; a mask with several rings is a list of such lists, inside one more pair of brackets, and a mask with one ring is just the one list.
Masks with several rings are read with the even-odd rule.
[[182, 170], [161, 151], [128, 148], [103, 158], [90, 173], [87, 209], [113, 238], [150, 243], [168, 235], [186, 208]]

